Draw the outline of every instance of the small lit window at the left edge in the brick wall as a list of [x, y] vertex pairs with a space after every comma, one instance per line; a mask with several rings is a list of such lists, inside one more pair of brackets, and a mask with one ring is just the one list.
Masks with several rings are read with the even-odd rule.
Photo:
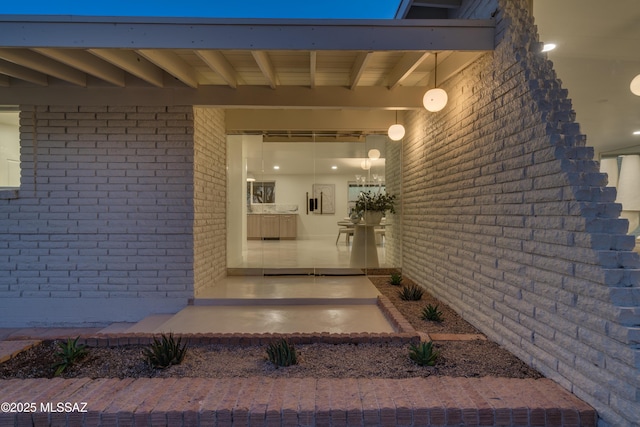
[[[1, 108], [1, 107], [0, 107]], [[20, 187], [20, 126], [17, 111], [0, 109], [0, 188]]]

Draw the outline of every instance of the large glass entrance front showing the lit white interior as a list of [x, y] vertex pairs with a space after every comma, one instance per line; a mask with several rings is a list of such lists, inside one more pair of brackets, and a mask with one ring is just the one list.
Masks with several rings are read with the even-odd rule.
[[376, 224], [364, 219], [371, 221], [372, 206], [358, 204], [363, 195], [399, 192], [400, 173], [389, 175], [387, 153], [398, 157], [401, 148], [390, 143], [400, 144], [381, 135], [229, 136], [230, 274], [399, 268], [399, 204]]

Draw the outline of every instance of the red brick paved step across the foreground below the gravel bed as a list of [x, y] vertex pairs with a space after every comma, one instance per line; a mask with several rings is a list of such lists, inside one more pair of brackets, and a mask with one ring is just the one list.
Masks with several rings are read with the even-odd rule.
[[[37, 409], [2, 412], [2, 426], [597, 423], [590, 406], [548, 379], [57, 378], [0, 380], [0, 396], [6, 402], [33, 402]], [[47, 403], [57, 407], [57, 402], [77, 404], [69, 407], [76, 412], [41, 412]]]

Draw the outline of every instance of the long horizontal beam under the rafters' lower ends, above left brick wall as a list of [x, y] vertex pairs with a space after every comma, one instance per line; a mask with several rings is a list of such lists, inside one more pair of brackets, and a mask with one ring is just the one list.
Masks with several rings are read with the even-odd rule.
[[2, 88], [0, 95], [6, 105], [138, 105], [144, 99], [147, 105], [209, 105], [220, 108], [419, 109], [424, 108], [422, 95], [426, 90], [425, 86], [398, 86], [392, 90], [386, 86], [360, 86], [358, 90], [350, 90], [345, 86], [316, 89], [278, 86], [271, 89], [268, 86], [239, 85], [234, 89], [226, 85], [201, 85], [197, 89], [184, 86], [166, 90], [139, 86], [24, 88], [12, 85]]

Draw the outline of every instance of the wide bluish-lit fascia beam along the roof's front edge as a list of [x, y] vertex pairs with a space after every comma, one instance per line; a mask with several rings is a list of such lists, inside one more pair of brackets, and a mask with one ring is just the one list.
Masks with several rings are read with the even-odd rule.
[[493, 50], [475, 19], [203, 19], [0, 16], [2, 45], [75, 49]]

